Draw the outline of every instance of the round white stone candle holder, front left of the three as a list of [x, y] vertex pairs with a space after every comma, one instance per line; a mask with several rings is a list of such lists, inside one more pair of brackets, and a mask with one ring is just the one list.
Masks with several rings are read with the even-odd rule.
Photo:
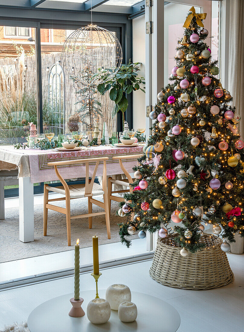
[[104, 298], [94, 298], [88, 303], [86, 314], [89, 321], [93, 324], [106, 323], [111, 314], [110, 305]]

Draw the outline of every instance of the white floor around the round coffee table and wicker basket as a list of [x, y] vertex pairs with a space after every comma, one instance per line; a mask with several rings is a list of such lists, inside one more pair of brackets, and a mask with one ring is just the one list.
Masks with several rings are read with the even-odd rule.
[[[150, 261], [103, 270], [98, 285], [100, 289], [106, 289], [114, 283], [124, 283], [131, 290], [162, 298], [180, 313], [179, 332], [243, 332], [244, 255], [228, 254], [228, 259], [235, 277], [231, 284], [218, 289], [179, 290], [163, 286], [149, 276]], [[93, 290], [94, 287], [90, 274], [80, 276], [81, 296], [82, 290]], [[73, 277], [68, 277], [0, 292], [0, 330], [5, 324], [27, 321], [36, 306], [72, 290]], [[159, 331], [160, 326], [157, 331], [148, 332]]]

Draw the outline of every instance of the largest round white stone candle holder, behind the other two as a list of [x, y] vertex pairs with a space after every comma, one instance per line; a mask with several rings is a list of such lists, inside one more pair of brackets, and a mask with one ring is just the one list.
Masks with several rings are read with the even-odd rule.
[[118, 310], [120, 303], [131, 301], [131, 291], [122, 284], [111, 285], [106, 290], [106, 300], [112, 310]]

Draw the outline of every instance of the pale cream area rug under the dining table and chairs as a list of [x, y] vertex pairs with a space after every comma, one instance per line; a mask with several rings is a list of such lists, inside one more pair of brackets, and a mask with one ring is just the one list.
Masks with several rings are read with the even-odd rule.
[[[103, 200], [102, 197], [96, 198]], [[65, 207], [65, 202], [54, 202]], [[71, 215], [88, 213], [87, 199], [71, 200]], [[99, 236], [99, 244], [119, 242], [118, 223], [126, 221], [116, 215], [118, 203], [111, 202], [110, 228], [111, 239], [108, 240], [105, 215], [92, 218], [92, 229], [88, 228], [88, 218], [71, 219], [71, 246], [67, 245], [66, 217], [56, 211], [48, 210], [48, 236], [43, 236], [43, 205], [34, 206], [35, 241], [23, 243], [19, 240], [19, 208], [5, 210], [5, 219], [0, 220], [0, 263], [13, 261], [61, 251], [73, 250], [76, 240], [80, 240], [80, 248], [92, 246], [92, 236]], [[93, 212], [103, 211], [93, 205]]]

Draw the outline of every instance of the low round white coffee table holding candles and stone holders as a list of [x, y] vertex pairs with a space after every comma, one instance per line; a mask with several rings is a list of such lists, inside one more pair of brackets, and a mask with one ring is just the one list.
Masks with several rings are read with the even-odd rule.
[[[82, 308], [86, 313], [87, 304], [95, 297], [95, 291], [86, 290], [80, 293], [84, 298]], [[105, 290], [99, 291], [105, 298]], [[105, 324], [92, 324], [86, 314], [73, 318], [68, 315], [71, 309], [69, 299], [72, 294], [55, 297], [40, 304], [30, 314], [28, 327], [31, 332], [94, 332], [94, 331], [145, 331], [175, 332], [180, 326], [181, 318], [178, 311], [167, 302], [147, 294], [131, 292], [131, 301], [138, 309], [136, 321], [123, 323], [119, 320], [118, 311], [111, 310], [109, 321]]]

